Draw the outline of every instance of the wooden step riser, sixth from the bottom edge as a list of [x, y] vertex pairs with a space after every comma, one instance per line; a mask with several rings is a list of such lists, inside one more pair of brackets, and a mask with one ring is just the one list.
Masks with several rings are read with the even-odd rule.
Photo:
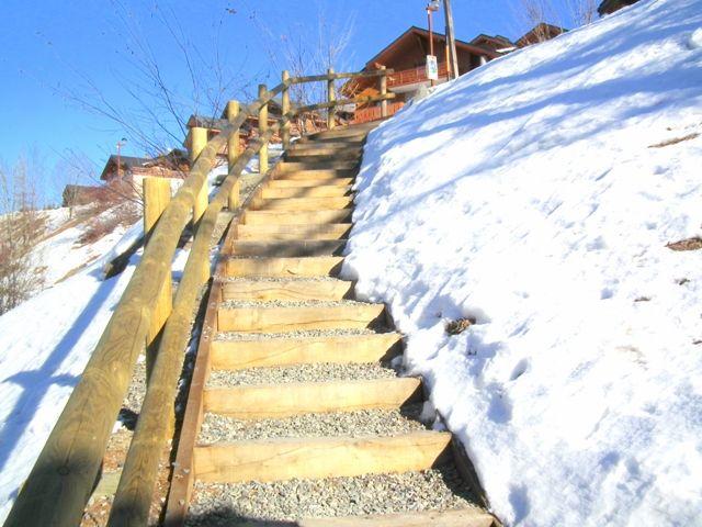
[[336, 301], [353, 295], [353, 282], [344, 280], [238, 280], [222, 285], [224, 300], [322, 300]]

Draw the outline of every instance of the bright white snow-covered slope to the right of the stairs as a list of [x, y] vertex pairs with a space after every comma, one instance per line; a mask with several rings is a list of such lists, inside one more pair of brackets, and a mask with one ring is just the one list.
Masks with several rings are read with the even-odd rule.
[[702, 0], [649, 0], [370, 136], [344, 273], [509, 525], [702, 525], [700, 134]]

